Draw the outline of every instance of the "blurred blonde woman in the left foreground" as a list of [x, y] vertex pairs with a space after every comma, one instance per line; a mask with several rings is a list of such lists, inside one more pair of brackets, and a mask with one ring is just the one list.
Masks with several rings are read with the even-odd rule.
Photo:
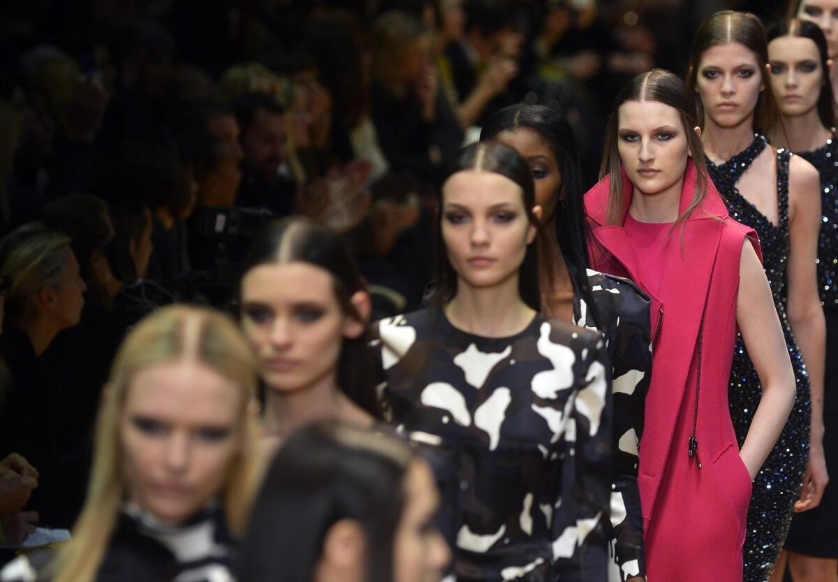
[[231, 580], [256, 481], [256, 361], [232, 320], [174, 305], [123, 342], [72, 538], [3, 582]]

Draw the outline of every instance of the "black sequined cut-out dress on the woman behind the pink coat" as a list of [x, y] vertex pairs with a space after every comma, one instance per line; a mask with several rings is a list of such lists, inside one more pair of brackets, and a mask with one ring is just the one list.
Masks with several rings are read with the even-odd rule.
[[[775, 226], [737, 190], [736, 182], [767, 145], [762, 136], [716, 166], [708, 162], [713, 183], [722, 193], [730, 216], [751, 226], [759, 235], [763, 249], [763, 267], [771, 286], [786, 345], [794, 367], [797, 395], [783, 433], [768, 455], [762, 470], [753, 481], [753, 496], [747, 512], [747, 532], [743, 550], [745, 582], [766, 582], [789, 532], [792, 509], [797, 499], [809, 457], [810, 386], [806, 366], [791, 327], [786, 320], [786, 262], [789, 256], [789, 158], [788, 150], [777, 153], [777, 198], [779, 225]], [[762, 387], [747, 356], [742, 335], [737, 337], [728, 389], [731, 418], [739, 446], [747, 436], [756, 412]]]

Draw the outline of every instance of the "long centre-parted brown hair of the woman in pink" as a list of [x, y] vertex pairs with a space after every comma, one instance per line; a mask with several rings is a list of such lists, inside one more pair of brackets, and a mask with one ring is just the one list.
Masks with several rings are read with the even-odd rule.
[[600, 178], [611, 177], [606, 223], [619, 225], [623, 221], [623, 201], [626, 193], [623, 192], [623, 180], [621, 179], [623, 164], [620, 161], [618, 150], [618, 131], [620, 106], [626, 101], [656, 101], [673, 107], [678, 112], [697, 173], [696, 191], [693, 194], [690, 207], [675, 221], [675, 225], [679, 225], [690, 217], [693, 210], [701, 205], [701, 201], [706, 196], [707, 184], [710, 180], [707, 177], [707, 164], [701, 138], [693, 131], [693, 127], [698, 125], [696, 101], [693, 99], [691, 92], [687, 91], [684, 81], [681, 81], [678, 75], [663, 69], [654, 69], [637, 75], [620, 89], [617, 98], [614, 99], [611, 116], [608, 118], [608, 126], [605, 130], [603, 165], [599, 170]]

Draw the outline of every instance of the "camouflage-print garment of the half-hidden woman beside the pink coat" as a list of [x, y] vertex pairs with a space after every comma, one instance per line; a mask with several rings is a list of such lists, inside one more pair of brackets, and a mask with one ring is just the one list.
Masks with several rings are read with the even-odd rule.
[[[649, 298], [634, 283], [622, 277], [588, 269], [587, 286], [594, 303], [589, 309], [575, 294], [573, 320], [603, 334], [612, 362], [613, 484], [609, 538], [609, 580], [646, 575], [643, 513], [637, 485], [638, 444], [643, 435], [646, 393], [652, 370]], [[591, 544], [595, 551], [599, 544]]]

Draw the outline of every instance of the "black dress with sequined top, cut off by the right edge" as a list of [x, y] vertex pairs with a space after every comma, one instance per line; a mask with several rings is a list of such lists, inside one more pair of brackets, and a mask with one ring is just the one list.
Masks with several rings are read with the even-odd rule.
[[820, 172], [818, 288], [826, 318], [824, 455], [830, 483], [820, 506], [795, 513], [786, 548], [816, 558], [838, 558], [838, 139], [799, 153]]

